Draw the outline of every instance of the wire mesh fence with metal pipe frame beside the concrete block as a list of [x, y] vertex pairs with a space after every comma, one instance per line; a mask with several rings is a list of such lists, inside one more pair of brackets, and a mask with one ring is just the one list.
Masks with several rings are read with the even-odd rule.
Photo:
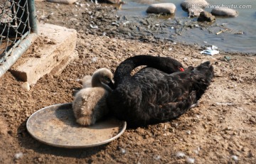
[[[8, 67], [14, 64], [17, 59], [14, 56], [21, 55], [14, 53], [15, 49], [31, 32], [36, 32], [34, 1], [0, 0], [0, 66], [5, 65], [5, 62]], [[8, 59], [12, 61], [8, 62]]]

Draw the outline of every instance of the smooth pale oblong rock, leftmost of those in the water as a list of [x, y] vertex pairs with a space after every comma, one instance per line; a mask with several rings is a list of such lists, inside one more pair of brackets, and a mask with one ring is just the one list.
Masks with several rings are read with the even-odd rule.
[[162, 4], [151, 4], [146, 13], [165, 13], [165, 14], [174, 14], [176, 11], [175, 4], [172, 3], [162, 3]]

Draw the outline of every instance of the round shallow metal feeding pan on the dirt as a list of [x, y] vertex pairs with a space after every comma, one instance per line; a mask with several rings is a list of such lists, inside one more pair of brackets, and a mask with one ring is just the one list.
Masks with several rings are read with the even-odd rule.
[[47, 106], [32, 114], [26, 123], [28, 133], [38, 141], [62, 148], [87, 148], [109, 143], [124, 133], [126, 122], [104, 119], [93, 126], [75, 122], [72, 104]]

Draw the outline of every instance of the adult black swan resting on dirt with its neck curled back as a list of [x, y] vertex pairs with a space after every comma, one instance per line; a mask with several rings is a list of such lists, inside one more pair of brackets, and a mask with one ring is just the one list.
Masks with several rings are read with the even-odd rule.
[[[139, 65], [148, 67], [131, 76]], [[117, 67], [107, 104], [112, 114], [129, 126], [169, 121], [196, 104], [212, 78], [210, 62], [183, 71], [181, 63], [174, 59], [138, 55]]]

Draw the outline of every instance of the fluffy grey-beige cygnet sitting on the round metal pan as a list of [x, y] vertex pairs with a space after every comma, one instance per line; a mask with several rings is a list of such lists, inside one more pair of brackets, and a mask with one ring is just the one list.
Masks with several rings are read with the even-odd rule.
[[92, 75], [92, 87], [83, 88], [75, 94], [73, 112], [78, 124], [91, 126], [108, 114], [106, 101], [112, 89], [107, 84], [112, 83], [112, 79], [112, 72], [101, 68]]

